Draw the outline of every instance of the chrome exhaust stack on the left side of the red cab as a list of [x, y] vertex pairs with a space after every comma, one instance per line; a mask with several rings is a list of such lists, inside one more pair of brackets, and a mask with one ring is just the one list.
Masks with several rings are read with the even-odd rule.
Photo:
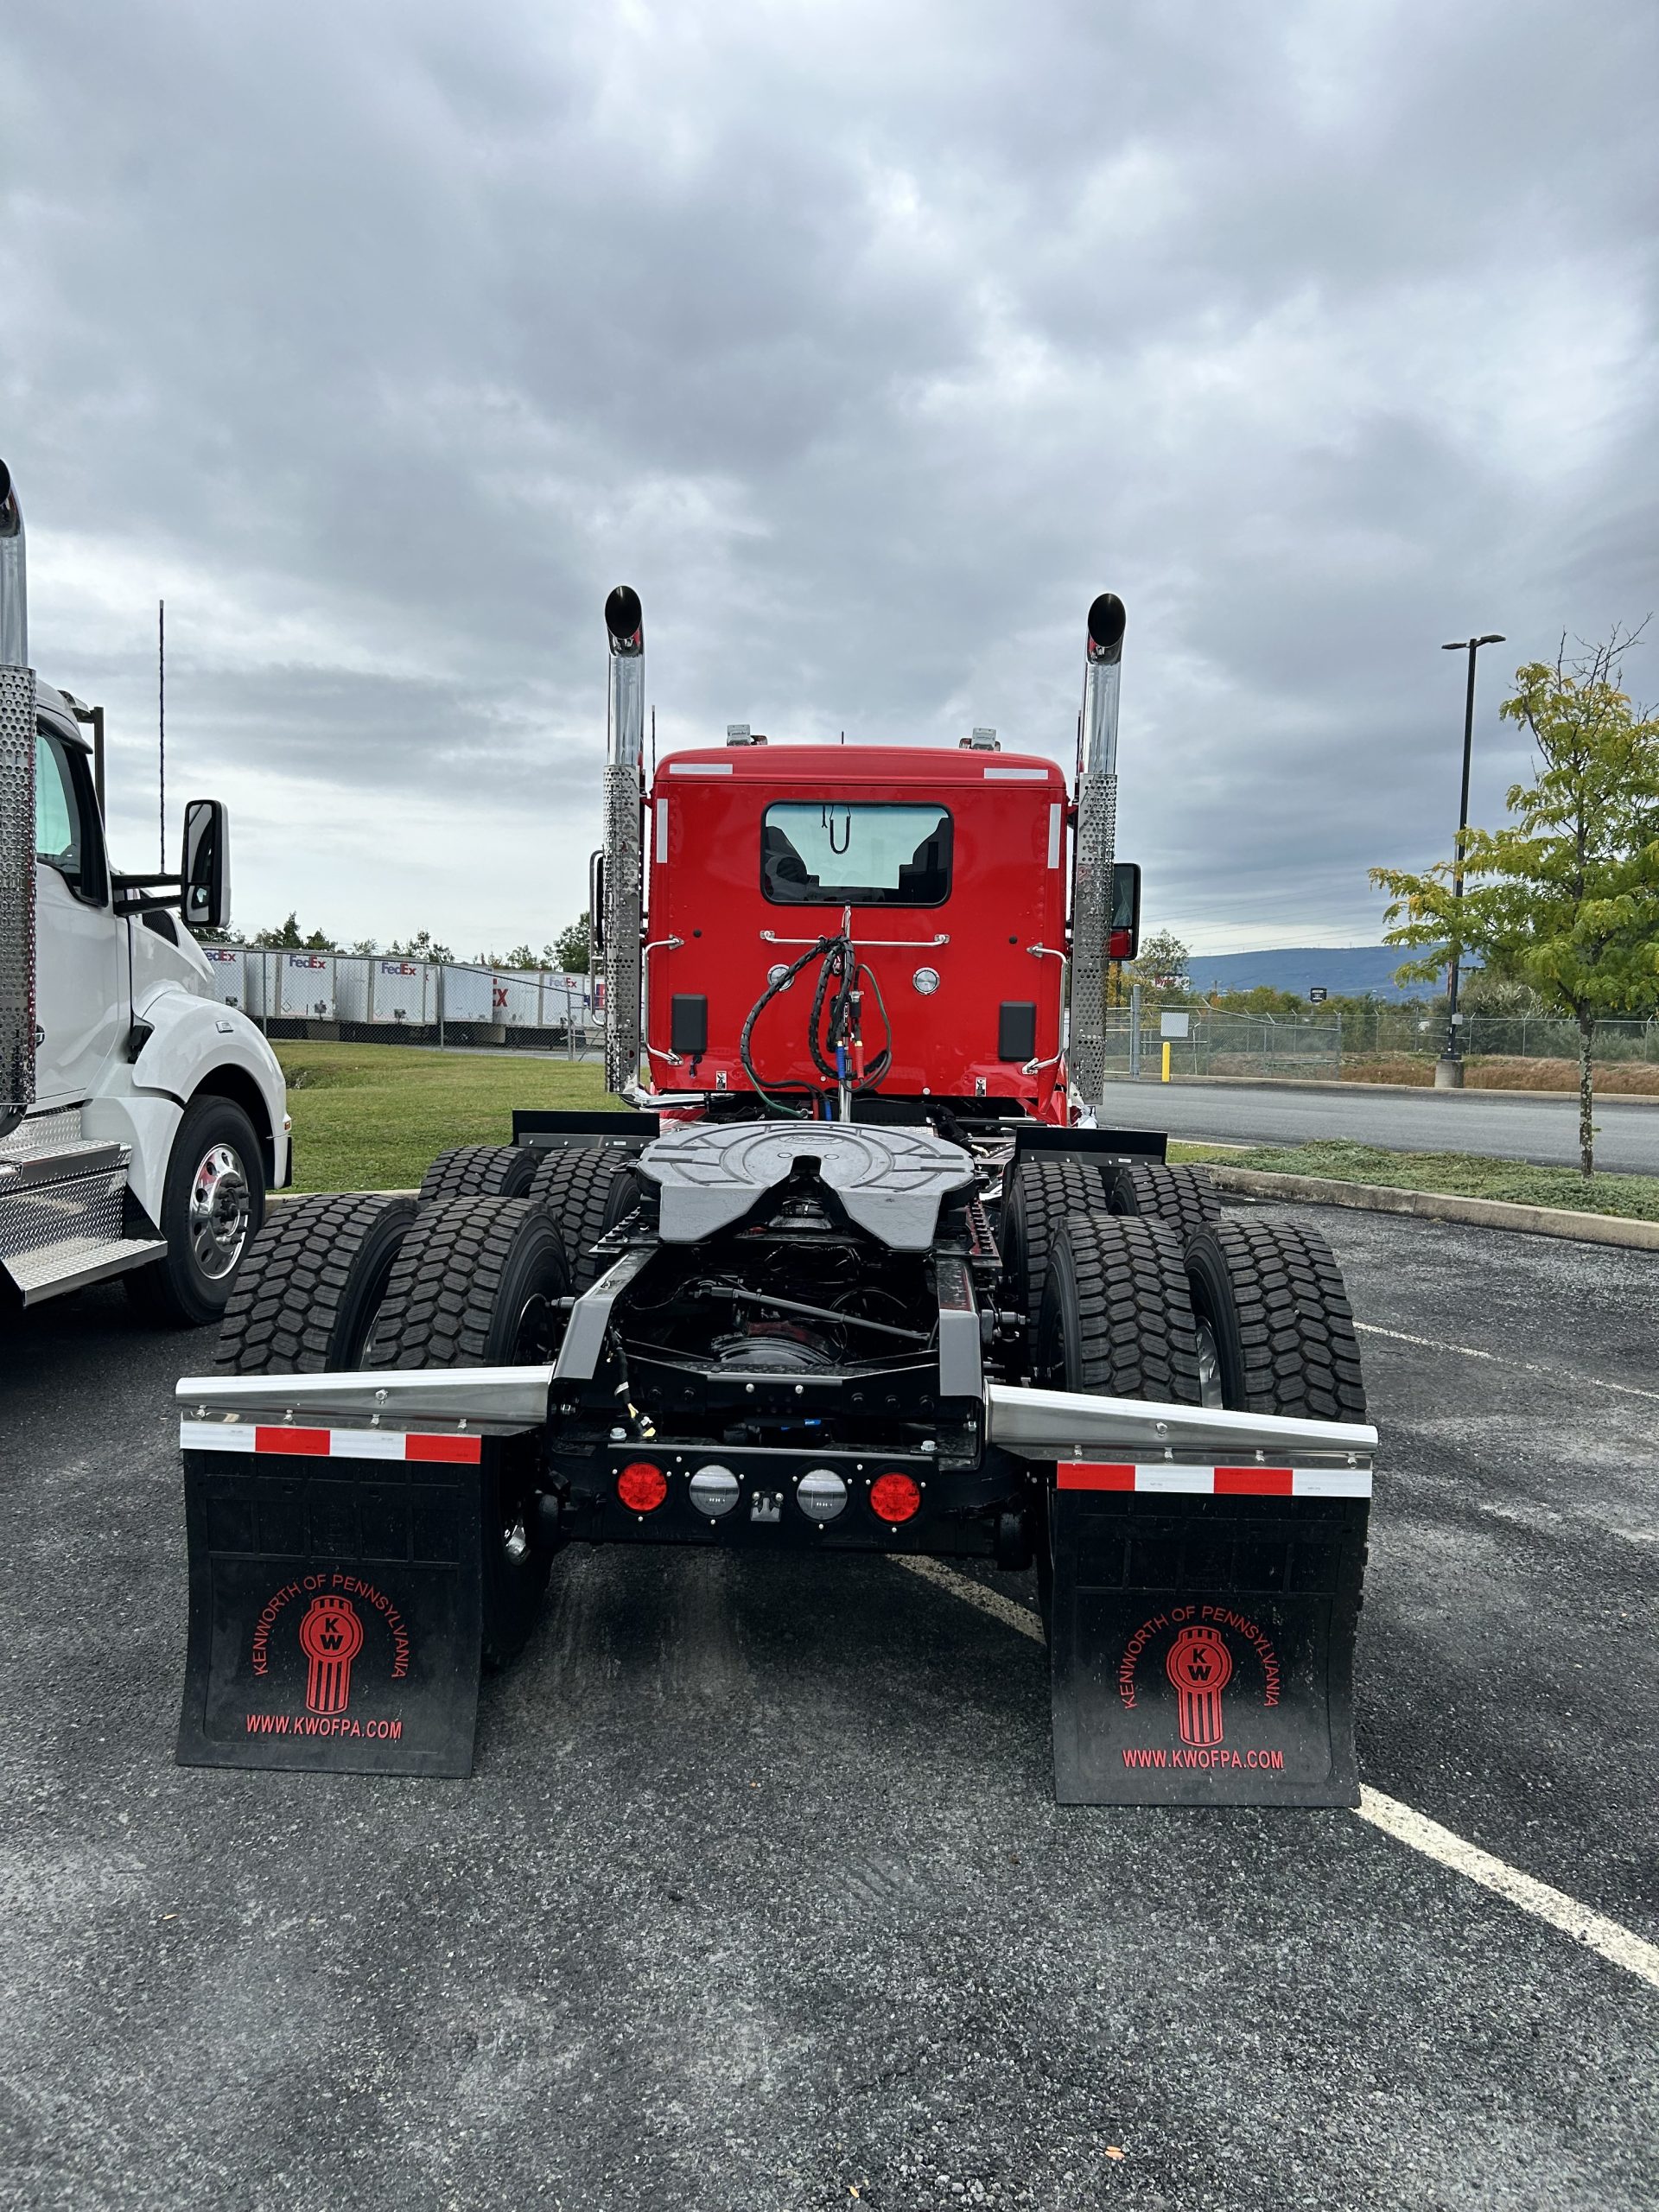
[[639, 593], [617, 584], [604, 602], [611, 701], [604, 761], [604, 1086], [639, 1084], [641, 838], [639, 765], [646, 752], [646, 624]]

